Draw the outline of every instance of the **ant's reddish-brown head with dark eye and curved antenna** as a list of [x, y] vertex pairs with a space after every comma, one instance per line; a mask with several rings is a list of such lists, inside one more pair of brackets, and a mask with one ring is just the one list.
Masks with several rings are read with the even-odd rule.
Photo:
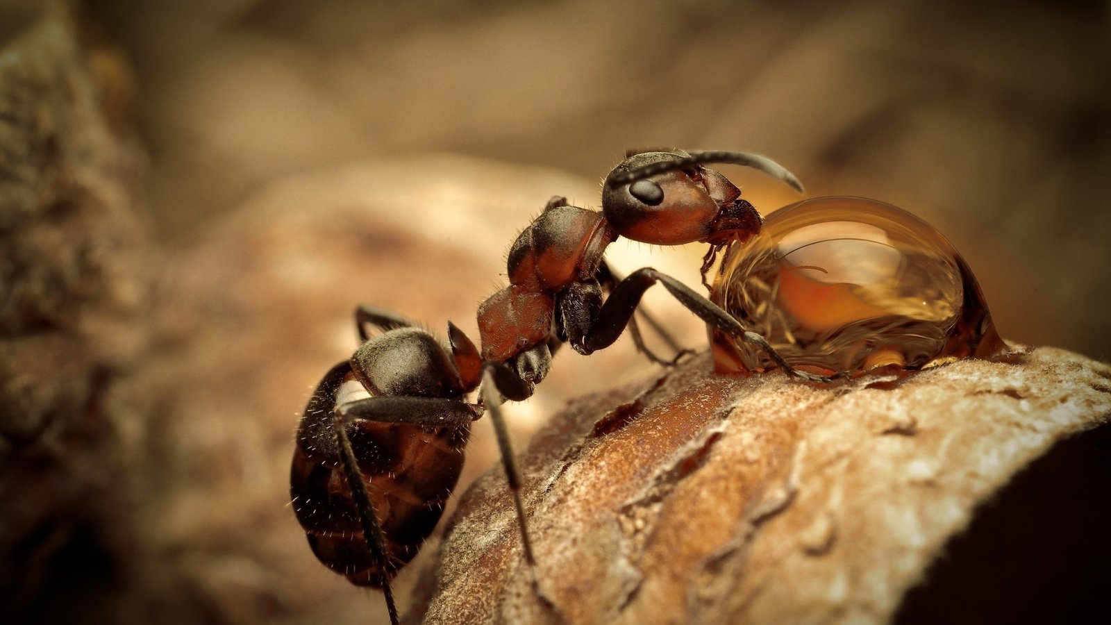
[[648, 151], [630, 155], [605, 177], [602, 212], [613, 229], [632, 240], [658, 245], [693, 241], [723, 245], [760, 231], [760, 214], [741, 190], [704, 162], [759, 169], [800, 192], [790, 171], [747, 152]]

